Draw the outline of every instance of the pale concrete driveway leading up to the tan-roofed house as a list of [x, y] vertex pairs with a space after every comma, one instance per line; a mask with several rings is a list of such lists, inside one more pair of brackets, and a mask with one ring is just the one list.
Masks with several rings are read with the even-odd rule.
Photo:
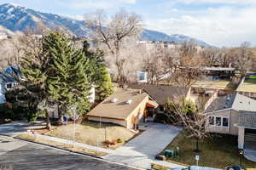
[[109, 161], [118, 161], [135, 167], [149, 169], [151, 163], [170, 167], [179, 167], [165, 161], [156, 161], [154, 156], [159, 154], [182, 131], [181, 127], [174, 127], [159, 123], [147, 123], [146, 131], [131, 139], [124, 146], [119, 147], [113, 154], [103, 156]]

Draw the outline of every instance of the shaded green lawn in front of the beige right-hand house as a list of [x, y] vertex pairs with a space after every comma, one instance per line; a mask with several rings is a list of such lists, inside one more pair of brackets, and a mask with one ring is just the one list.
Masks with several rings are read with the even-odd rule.
[[[173, 150], [179, 147], [180, 156], [168, 161], [182, 162], [195, 165], [195, 155], [201, 156], [200, 166], [224, 168], [228, 165], [239, 164], [240, 157], [237, 150], [237, 137], [231, 135], [214, 135], [200, 143], [201, 153], [195, 153], [195, 139], [188, 139], [188, 134], [183, 131], [169, 144], [165, 150]], [[242, 159], [243, 167], [256, 167], [256, 162]]]

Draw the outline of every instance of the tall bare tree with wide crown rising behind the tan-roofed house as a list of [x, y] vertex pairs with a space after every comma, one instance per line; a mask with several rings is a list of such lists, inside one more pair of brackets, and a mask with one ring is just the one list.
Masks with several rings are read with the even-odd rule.
[[85, 21], [92, 29], [96, 42], [103, 44], [108, 49], [108, 52], [114, 56], [115, 65], [118, 70], [119, 86], [123, 86], [125, 82], [125, 59], [121, 59], [120, 50], [124, 47], [124, 43], [128, 39], [137, 40], [137, 37], [142, 31], [141, 17], [120, 9], [108, 23], [107, 17], [102, 11], [86, 17]]

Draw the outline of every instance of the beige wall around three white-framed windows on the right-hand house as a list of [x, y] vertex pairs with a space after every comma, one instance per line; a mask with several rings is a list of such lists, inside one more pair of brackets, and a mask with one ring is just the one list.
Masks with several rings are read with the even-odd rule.
[[[214, 117], [214, 125], [211, 125], [209, 122], [210, 116]], [[212, 133], [226, 133], [226, 134], [232, 134], [232, 135], [238, 135], [238, 127], [235, 126], [235, 124], [238, 122], [239, 112], [234, 110], [224, 110], [224, 111], [216, 111], [212, 114], [208, 115], [207, 120], [207, 127], [209, 128], [209, 131]], [[220, 125], [217, 126], [216, 124], [216, 117], [221, 118]], [[224, 118], [229, 118], [229, 123], [227, 127], [223, 126]]]

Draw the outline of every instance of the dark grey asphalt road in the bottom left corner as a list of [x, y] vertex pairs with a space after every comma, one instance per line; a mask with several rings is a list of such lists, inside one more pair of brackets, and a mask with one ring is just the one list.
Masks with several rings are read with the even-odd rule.
[[65, 170], [65, 169], [85, 169], [85, 170], [133, 170], [112, 162], [102, 161], [90, 156], [80, 156], [64, 150], [56, 150], [43, 145], [24, 142], [12, 150], [5, 149], [15, 142], [14, 139], [0, 140], [0, 167], [13, 167], [13, 170]]

